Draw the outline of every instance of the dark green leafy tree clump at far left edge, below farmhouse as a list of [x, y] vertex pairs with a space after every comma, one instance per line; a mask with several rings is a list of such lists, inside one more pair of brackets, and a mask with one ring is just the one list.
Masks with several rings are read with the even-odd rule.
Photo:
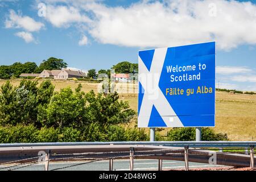
[[40, 127], [36, 123], [38, 112], [49, 103], [54, 87], [49, 81], [43, 81], [39, 88], [37, 85], [37, 81], [22, 80], [17, 87], [13, 87], [10, 81], [1, 86], [0, 125], [32, 123]]

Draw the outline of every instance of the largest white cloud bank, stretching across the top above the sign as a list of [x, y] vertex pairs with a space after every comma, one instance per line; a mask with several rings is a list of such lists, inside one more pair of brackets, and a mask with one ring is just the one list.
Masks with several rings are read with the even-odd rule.
[[47, 19], [53, 26], [79, 24], [104, 44], [166, 47], [216, 40], [217, 47], [226, 50], [256, 44], [251, 33], [256, 32], [256, 5], [251, 2], [139, 1], [129, 7], [82, 0], [48, 3]]

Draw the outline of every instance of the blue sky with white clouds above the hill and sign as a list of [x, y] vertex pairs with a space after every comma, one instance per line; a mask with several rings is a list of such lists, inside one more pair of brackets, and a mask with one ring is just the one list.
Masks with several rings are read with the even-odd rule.
[[216, 41], [216, 88], [256, 91], [256, 1], [0, 0], [0, 65], [138, 63], [138, 51]]

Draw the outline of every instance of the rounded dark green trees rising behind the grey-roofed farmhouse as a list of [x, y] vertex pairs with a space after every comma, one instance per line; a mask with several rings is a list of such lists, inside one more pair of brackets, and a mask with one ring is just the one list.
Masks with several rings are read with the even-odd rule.
[[53, 70], [53, 69], [62, 69], [67, 68], [68, 64], [63, 61], [63, 59], [57, 59], [55, 57], [50, 57], [49, 59], [43, 60], [43, 63], [40, 64], [37, 73], [42, 72], [44, 69]]

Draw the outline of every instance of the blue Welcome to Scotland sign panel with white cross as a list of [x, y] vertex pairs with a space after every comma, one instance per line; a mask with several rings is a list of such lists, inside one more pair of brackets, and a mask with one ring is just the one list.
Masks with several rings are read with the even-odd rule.
[[138, 127], [215, 125], [215, 42], [139, 51]]

